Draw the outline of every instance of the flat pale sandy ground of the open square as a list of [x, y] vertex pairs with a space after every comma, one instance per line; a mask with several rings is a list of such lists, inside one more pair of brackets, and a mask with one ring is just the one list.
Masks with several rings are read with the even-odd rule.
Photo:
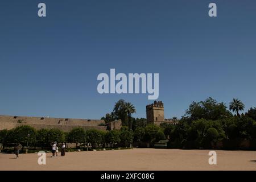
[[134, 150], [66, 152], [38, 164], [38, 154], [0, 154], [0, 170], [78, 170], [78, 171], [180, 171], [180, 170], [253, 170], [256, 151], [216, 151], [217, 165], [209, 165], [209, 150]]

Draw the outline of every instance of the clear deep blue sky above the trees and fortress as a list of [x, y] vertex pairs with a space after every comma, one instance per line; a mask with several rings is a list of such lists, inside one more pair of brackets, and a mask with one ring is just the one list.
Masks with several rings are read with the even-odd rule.
[[147, 94], [98, 94], [110, 68], [159, 73], [166, 118], [208, 97], [256, 106], [256, 1], [0, 1], [1, 115], [97, 119], [123, 98], [146, 117]]

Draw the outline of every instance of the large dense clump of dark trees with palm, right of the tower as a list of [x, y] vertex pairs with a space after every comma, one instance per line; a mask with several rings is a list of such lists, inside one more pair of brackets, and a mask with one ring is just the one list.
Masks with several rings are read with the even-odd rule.
[[225, 104], [213, 98], [193, 102], [177, 125], [162, 125], [164, 134], [174, 148], [211, 148], [213, 143], [222, 142], [224, 148], [238, 149], [242, 141], [256, 140], [256, 108], [240, 114], [244, 107], [234, 99], [229, 105], [236, 113], [232, 115]]

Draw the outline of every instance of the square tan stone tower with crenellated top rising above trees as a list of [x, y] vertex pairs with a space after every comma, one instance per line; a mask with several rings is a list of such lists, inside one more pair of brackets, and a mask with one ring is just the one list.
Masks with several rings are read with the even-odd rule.
[[154, 123], [160, 125], [164, 122], [164, 106], [162, 101], [155, 101], [153, 104], [146, 106], [147, 125]]

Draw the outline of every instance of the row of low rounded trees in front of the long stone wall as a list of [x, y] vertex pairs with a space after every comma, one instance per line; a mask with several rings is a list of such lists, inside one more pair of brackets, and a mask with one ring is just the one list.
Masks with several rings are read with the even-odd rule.
[[92, 144], [92, 147], [101, 146], [106, 147], [106, 144], [119, 143], [123, 146], [133, 142], [133, 132], [129, 131], [127, 127], [123, 127], [122, 130], [113, 131], [100, 131], [96, 129], [84, 130], [81, 127], [77, 127], [69, 132], [63, 132], [59, 129], [40, 129], [35, 130], [31, 126], [19, 126], [11, 130], [0, 131], [0, 143], [3, 147], [11, 147], [16, 143], [26, 146], [29, 142], [31, 147], [50, 147], [52, 142], [57, 143], [76, 143], [84, 145], [86, 143]]

